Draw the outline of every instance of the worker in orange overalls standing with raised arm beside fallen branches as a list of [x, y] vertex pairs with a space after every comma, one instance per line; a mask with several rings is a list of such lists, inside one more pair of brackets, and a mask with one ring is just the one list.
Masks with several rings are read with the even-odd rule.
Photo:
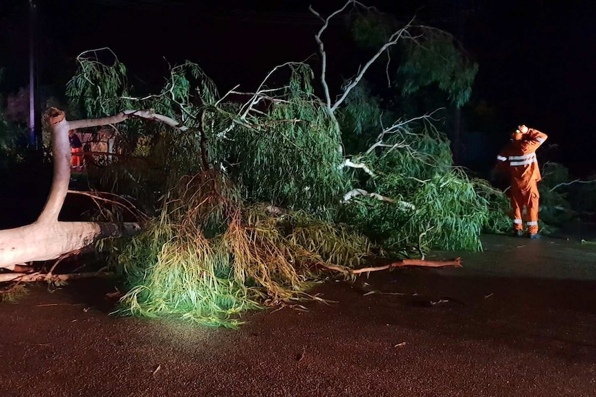
[[536, 149], [546, 141], [547, 135], [523, 124], [511, 135], [511, 142], [496, 159], [498, 167], [511, 175], [511, 206], [513, 209], [513, 229], [518, 237], [523, 236], [521, 217], [525, 206], [530, 238], [540, 238], [538, 234], [538, 209], [540, 193], [538, 182], [542, 179]]

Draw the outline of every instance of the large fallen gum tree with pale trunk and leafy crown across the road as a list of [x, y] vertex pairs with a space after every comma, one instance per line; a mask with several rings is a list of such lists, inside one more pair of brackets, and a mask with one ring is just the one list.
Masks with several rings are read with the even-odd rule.
[[[434, 180], [432, 178], [438, 171], [447, 173], [451, 166], [450, 161], [436, 161], [439, 157], [451, 157], [448, 145], [436, 138], [438, 133], [418, 134], [413, 128], [406, 128], [406, 124], [416, 121], [416, 118], [395, 122], [392, 115], [380, 117], [383, 113], [380, 107], [375, 113], [379, 117], [362, 117], [360, 113], [351, 112], [351, 108], [361, 108], [354, 99], [366, 93], [366, 90], [357, 89], [366, 82], [365, 72], [371, 70], [385, 53], [389, 59], [389, 51], [398, 48], [400, 39], [413, 41], [417, 46], [422, 39], [420, 35], [429, 32], [429, 29], [406, 23], [391, 30], [384, 44], [374, 50], [373, 56], [366, 60], [355, 77], [339, 88], [339, 96], [332, 101], [335, 95], [330, 93], [326, 81], [327, 53], [321, 36], [329, 20], [350, 5], [362, 8], [357, 1], [349, 0], [344, 8], [327, 18], [311, 9], [324, 22], [315, 37], [322, 59], [320, 82], [324, 86], [323, 98], [315, 95], [313, 69], [304, 63], [288, 62], [277, 66], [254, 93], [240, 93], [234, 88], [219, 97], [213, 82], [201, 68], [187, 61], [171, 68], [171, 78], [160, 93], [134, 97], [126, 84], [126, 68], [117, 57], [114, 56], [111, 65], [101, 64], [95, 51], [94, 57], [89, 57], [89, 52], [77, 57], [80, 70], [69, 82], [67, 94], [78, 99], [88, 117], [111, 115], [127, 108], [151, 108], [171, 118], [130, 110], [99, 120], [101, 124], [115, 124], [128, 117], [139, 116], [158, 119], [181, 131], [187, 129], [185, 126], [192, 128], [190, 133], [162, 134], [162, 130], [153, 128], [155, 124], [133, 122], [124, 124], [118, 132], [135, 146], [127, 153], [131, 155], [129, 159], [139, 155], [159, 160], [156, 168], [165, 173], [151, 180], [156, 182], [154, 188], [149, 188], [146, 183], [150, 177], [131, 177], [132, 186], [122, 186], [122, 176], [131, 175], [127, 171], [140, 171], [134, 175], [147, 176], [147, 173], [141, 172], [147, 168], [136, 168], [136, 164], [127, 168], [123, 161], [101, 169], [111, 179], [109, 184], [99, 185], [97, 190], [129, 195], [136, 202], [140, 202], [140, 194], [147, 191], [159, 193], [157, 197], [160, 197], [155, 197], [152, 202], [158, 204], [151, 208], [153, 212], [146, 211], [153, 215], [151, 220], [142, 225], [134, 224], [143, 226], [142, 233], [130, 240], [109, 240], [109, 244], [114, 244], [111, 250], [114, 255], [109, 258], [109, 265], [124, 273], [128, 289], [122, 296], [121, 313], [152, 318], [178, 317], [210, 325], [234, 326], [239, 322], [239, 313], [246, 309], [287, 304], [303, 298], [317, 299], [308, 291], [313, 282], [321, 280], [322, 271], [326, 275], [339, 272], [346, 277], [354, 277], [401, 266], [460, 266], [459, 260], [427, 262], [405, 259], [384, 267], [365, 267], [369, 259], [387, 254], [382, 244], [377, 244], [383, 239], [375, 241], [369, 238], [362, 233], [368, 232], [366, 228], [358, 230], [351, 222], [337, 222], [336, 215], [342, 206], [362, 209], [365, 219], [371, 218], [366, 214], [369, 208], [386, 211], [378, 211], [379, 216], [374, 223], [389, 226], [395, 231], [402, 231], [404, 222], [413, 224], [416, 228], [407, 229], [405, 237], [416, 240], [416, 245], [420, 247], [424, 245], [422, 240], [425, 236], [433, 233], [434, 229], [441, 229], [434, 228], [434, 224], [442, 219], [441, 215], [445, 212], [425, 210], [428, 202], [440, 204], [445, 196], [454, 200], [460, 197], [455, 194], [457, 191], [448, 191], [447, 195], [435, 193], [435, 186], [445, 186], [446, 181], [440, 180], [440, 175]], [[363, 8], [362, 11], [359, 18], [366, 17], [372, 10]], [[451, 37], [446, 36], [445, 40], [451, 43]], [[290, 69], [290, 81], [275, 88], [270, 77], [282, 67]], [[224, 102], [227, 95], [248, 95], [250, 99], [241, 106], [234, 101]], [[57, 161], [64, 164], [60, 168], [64, 183], [68, 181], [66, 170], [69, 169], [70, 158], [67, 131], [100, 124], [93, 124], [93, 120], [87, 123], [67, 122], [64, 113], [59, 110], [53, 112], [48, 121], [53, 135], [62, 139], [62, 152], [55, 150], [54, 154]], [[362, 145], [372, 145], [365, 148], [362, 155], [357, 155], [361, 152], [360, 148], [355, 151], [344, 148], [344, 139], [353, 130], [348, 128], [348, 116], [370, 124], [370, 128], [366, 128], [368, 135], [357, 137]], [[418, 121], [430, 124], [431, 116], [432, 113], [418, 117]], [[183, 120], [185, 126], [174, 119]], [[387, 122], [391, 124], [388, 128], [384, 126]], [[426, 129], [425, 126], [418, 128]], [[375, 139], [371, 141], [369, 137]], [[147, 150], [138, 150], [139, 147]], [[400, 157], [395, 154], [398, 152], [402, 152]], [[393, 161], [395, 157], [402, 161]], [[408, 167], [411, 163], [406, 160], [410, 158], [414, 166]], [[380, 159], [388, 160], [382, 163]], [[116, 167], [124, 168], [124, 172], [119, 173]], [[421, 173], [416, 171], [422, 168], [427, 173], [420, 179]], [[55, 180], [59, 178], [55, 177]], [[393, 181], [392, 188], [379, 190], [385, 180]], [[402, 188], [405, 184], [397, 183], [410, 180], [427, 186], [434, 195], [425, 192], [418, 197], [416, 188], [419, 186], [405, 189]], [[451, 180], [455, 181], [454, 184], [462, 184], [456, 177]], [[474, 193], [469, 184], [463, 185], [469, 195]], [[40, 216], [40, 220], [33, 224], [37, 224], [37, 229], [22, 231], [21, 240], [13, 238], [12, 246], [26, 246], [29, 244], [28, 233], [36, 232], [40, 234], [40, 240], [35, 244], [39, 246], [36, 250], [39, 255], [34, 258], [59, 258], [68, 250], [79, 249], [106, 235], [93, 228], [85, 231], [84, 235], [73, 233], [65, 237], [62, 233], [60, 237], [47, 234], [49, 227], [71, 227], [66, 222], [57, 221], [64, 196], [68, 193], [68, 183], [64, 186], [62, 195], [56, 195], [59, 200], [50, 195], [46, 206], [57, 211], [44, 219]], [[416, 204], [409, 197], [415, 198]], [[376, 206], [369, 206], [367, 200], [374, 200], [373, 205]], [[259, 206], [254, 205], [255, 202], [266, 203], [267, 211], [261, 211]], [[380, 209], [381, 205], [391, 209], [391, 216], [385, 216], [387, 209]], [[467, 213], [484, 213], [469, 204], [463, 207], [467, 211], [459, 217], [459, 224], [463, 226], [470, 223], [465, 216]], [[486, 209], [481, 207], [481, 210]], [[416, 213], [424, 216], [413, 219]], [[97, 225], [94, 222], [80, 223]], [[111, 223], [103, 225], [120, 227]], [[449, 233], [451, 229], [442, 229], [447, 230], [445, 234], [449, 237], [460, 236], [460, 233]], [[477, 238], [479, 232], [476, 231], [472, 229], [469, 234]], [[122, 228], [108, 233], [122, 234], [126, 234]], [[50, 238], [54, 240], [48, 242]], [[399, 245], [398, 248], [409, 246], [411, 241], [408, 239], [396, 238], [393, 245]], [[48, 253], [49, 245], [56, 246], [51, 253]], [[422, 249], [420, 251], [422, 253]], [[404, 251], [402, 256], [407, 254]], [[21, 253], [19, 260], [12, 260], [12, 263], [34, 260], [31, 258], [32, 255]], [[17, 276], [19, 282], [51, 281], [53, 277], [51, 270], [46, 275]], [[67, 275], [64, 277], [70, 279]]]

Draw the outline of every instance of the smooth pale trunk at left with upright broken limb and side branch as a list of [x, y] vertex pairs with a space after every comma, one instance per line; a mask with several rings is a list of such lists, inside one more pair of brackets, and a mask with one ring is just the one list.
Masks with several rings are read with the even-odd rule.
[[13, 270], [15, 264], [53, 260], [93, 244], [97, 239], [129, 235], [140, 230], [140, 224], [135, 222], [119, 225], [108, 222], [58, 221], [71, 180], [71, 147], [68, 142], [68, 130], [115, 124], [130, 117], [153, 119], [180, 130], [187, 129], [174, 119], [145, 110], [126, 110], [103, 119], [73, 122], [66, 120], [62, 110], [50, 108], [46, 111], [44, 119], [52, 130], [54, 159], [50, 194], [44, 210], [35, 222], [0, 231], [0, 268]]

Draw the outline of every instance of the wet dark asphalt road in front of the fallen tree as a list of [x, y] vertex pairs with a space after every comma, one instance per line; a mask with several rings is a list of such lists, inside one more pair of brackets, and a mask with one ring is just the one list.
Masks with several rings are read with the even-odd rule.
[[581, 238], [486, 235], [481, 253], [428, 258], [462, 269], [330, 279], [315, 292], [333, 302], [238, 330], [109, 316], [109, 284], [38, 285], [0, 304], [0, 396], [596, 396]]

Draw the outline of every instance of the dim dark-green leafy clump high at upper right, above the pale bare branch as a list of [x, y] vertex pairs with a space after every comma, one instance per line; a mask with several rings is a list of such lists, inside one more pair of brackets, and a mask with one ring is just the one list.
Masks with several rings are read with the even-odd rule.
[[456, 106], [463, 106], [468, 101], [478, 64], [463, 55], [451, 35], [426, 30], [422, 44], [409, 41], [405, 49], [407, 57], [399, 70], [403, 95], [437, 84]]

